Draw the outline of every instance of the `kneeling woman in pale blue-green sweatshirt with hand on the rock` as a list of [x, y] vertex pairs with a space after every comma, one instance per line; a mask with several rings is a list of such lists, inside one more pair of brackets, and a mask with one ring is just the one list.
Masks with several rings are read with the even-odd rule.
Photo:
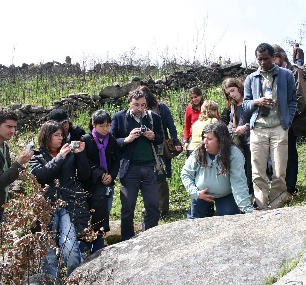
[[258, 212], [248, 194], [244, 156], [222, 122], [208, 124], [202, 143], [186, 160], [181, 179], [191, 196], [187, 219], [206, 216], [215, 202], [219, 216]]

